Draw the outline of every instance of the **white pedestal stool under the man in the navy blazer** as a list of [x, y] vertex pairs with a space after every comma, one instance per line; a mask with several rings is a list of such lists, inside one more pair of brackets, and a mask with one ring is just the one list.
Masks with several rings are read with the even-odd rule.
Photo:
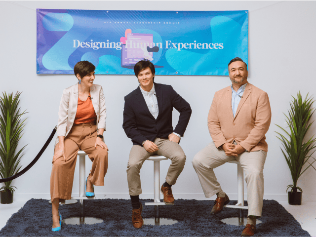
[[155, 205], [155, 217], [144, 218], [144, 225], [173, 225], [178, 221], [159, 218], [159, 205], [165, 205], [164, 202], [160, 201], [160, 160], [168, 159], [164, 156], [150, 156], [147, 160], [154, 161], [154, 202], [145, 202], [145, 205]]

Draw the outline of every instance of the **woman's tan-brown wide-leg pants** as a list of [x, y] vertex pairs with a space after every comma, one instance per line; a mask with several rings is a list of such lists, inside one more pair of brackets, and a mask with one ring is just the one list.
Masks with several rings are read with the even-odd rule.
[[[65, 156], [53, 162], [50, 176], [50, 198], [70, 199], [73, 189], [74, 173], [79, 150], [88, 154], [92, 161], [92, 168], [88, 180], [93, 185], [104, 186], [104, 177], [108, 169], [108, 152], [97, 146], [94, 148], [97, 127], [95, 124], [82, 123], [73, 125], [64, 140]], [[58, 150], [59, 143], [55, 147]]]

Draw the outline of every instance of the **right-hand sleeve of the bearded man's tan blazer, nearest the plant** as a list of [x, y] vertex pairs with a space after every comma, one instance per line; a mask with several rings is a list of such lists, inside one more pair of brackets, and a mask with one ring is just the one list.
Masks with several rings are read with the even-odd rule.
[[240, 145], [247, 151], [250, 151], [265, 136], [269, 129], [270, 123], [271, 107], [268, 94], [264, 92], [258, 99], [255, 126], [250, 131], [248, 137], [240, 142]]

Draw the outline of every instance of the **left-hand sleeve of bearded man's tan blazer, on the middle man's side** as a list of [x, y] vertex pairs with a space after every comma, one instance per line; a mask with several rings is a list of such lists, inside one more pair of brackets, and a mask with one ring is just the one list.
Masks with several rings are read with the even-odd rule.
[[227, 143], [226, 138], [224, 137], [224, 134], [221, 130], [220, 122], [217, 116], [217, 106], [216, 106], [216, 98], [217, 92], [215, 92], [211, 108], [208, 112], [207, 117], [207, 126], [209, 134], [212, 137], [212, 140], [217, 148], [222, 146], [223, 144]]

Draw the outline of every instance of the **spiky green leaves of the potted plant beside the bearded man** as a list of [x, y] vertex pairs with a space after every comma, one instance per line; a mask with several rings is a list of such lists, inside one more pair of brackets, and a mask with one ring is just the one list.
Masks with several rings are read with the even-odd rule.
[[[292, 96], [293, 97], [293, 96]], [[291, 192], [297, 192], [297, 190], [302, 189], [300, 187], [297, 187], [297, 180], [298, 178], [309, 168], [315, 167], [313, 166], [313, 163], [316, 161], [315, 158], [312, 157], [313, 153], [316, 151], [314, 150], [310, 155], [308, 155], [314, 148], [316, 148], [315, 142], [316, 138], [314, 136], [310, 138], [307, 142], [304, 142], [304, 137], [308, 130], [310, 129], [311, 125], [314, 121], [309, 122], [312, 118], [312, 115], [315, 112], [315, 109], [313, 110], [312, 104], [314, 101], [312, 101], [313, 98], [308, 97], [308, 94], [305, 97], [305, 100], [302, 100], [301, 92], [297, 93], [297, 98], [294, 98], [294, 101], [290, 103], [291, 110], [288, 111], [288, 117], [286, 117], [286, 123], [290, 128], [290, 133], [288, 133], [285, 129], [283, 129], [281, 126], [278, 126], [281, 128], [285, 135], [288, 136], [288, 139], [283, 136], [282, 134], [276, 132], [280, 137], [276, 136], [278, 139], [281, 140], [282, 146], [284, 148], [281, 148], [282, 153], [284, 155], [284, 158], [286, 159], [287, 165], [290, 168], [293, 184], [288, 185], [286, 191], [291, 188]], [[309, 160], [313, 161], [310, 162]], [[313, 160], [314, 159], [314, 160]], [[307, 167], [302, 171], [303, 166], [307, 164]], [[316, 169], [315, 169], [316, 170]]]

